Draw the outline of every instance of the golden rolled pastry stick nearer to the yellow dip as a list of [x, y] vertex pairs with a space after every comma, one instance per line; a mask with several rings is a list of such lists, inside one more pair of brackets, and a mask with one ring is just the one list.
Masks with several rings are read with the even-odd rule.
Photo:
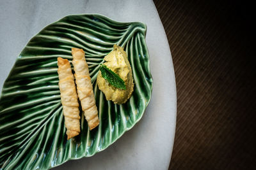
[[90, 130], [99, 125], [98, 110], [92, 89], [92, 81], [83, 49], [72, 48], [73, 66], [76, 77], [77, 94], [81, 101], [84, 117]]

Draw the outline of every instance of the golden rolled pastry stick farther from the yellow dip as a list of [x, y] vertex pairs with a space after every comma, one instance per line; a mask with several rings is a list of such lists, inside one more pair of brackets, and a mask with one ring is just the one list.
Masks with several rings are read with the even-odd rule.
[[76, 85], [70, 63], [67, 59], [58, 57], [58, 74], [61, 104], [65, 117], [68, 139], [77, 136], [80, 132], [79, 104], [77, 101]]

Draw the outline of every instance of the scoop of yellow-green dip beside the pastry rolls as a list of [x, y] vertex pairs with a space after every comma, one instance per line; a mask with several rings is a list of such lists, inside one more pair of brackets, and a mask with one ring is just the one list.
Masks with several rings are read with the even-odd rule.
[[[106, 99], [109, 101], [113, 101], [115, 104], [123, 104], [131, 97], [133, 92], [133, 78], [132, 78], [132, 69], [127, 58], [127, 54], [124, 51], [124, 48], [118, 45], [114, 45], [114, 49], [110, 52], [106, 57], [104, 57], [104, 64], [102, 64], [103, 68], [100, 68], [99, 74], [97, 76], [97, 85], [99, 89], [105, 94]], [[108, 76], [102, 74], [102, 71], [110, 69], [118, 75], [125, 84], [125, 88], [118, 86], [115, 87], [115, 83], [110, 83], [108, 81]], [[109, 72], [110, 73], [110, 72]], [[109, 80], [117, 81], [118, 78], [115, 79], [115, 76], [109, 78]]]

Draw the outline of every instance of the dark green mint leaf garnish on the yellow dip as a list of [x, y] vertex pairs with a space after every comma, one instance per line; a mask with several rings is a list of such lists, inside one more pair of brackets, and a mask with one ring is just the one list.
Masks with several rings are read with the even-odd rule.
[[126, 86], [124, 83], [124, 80], [118, 76], [118, 74], [114, 73], [104, 64], [100, 64], [100, 71], [103, 78], [105, 78], [109, 84], [113, 85], [113, 87], [116, 87], [118, 89], [126, 90]]

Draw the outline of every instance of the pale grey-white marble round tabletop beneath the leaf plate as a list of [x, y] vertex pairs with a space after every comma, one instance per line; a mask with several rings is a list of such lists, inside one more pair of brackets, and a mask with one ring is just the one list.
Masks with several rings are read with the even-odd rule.
[[75, 13], [100, 13], [117, 21], [147, 24], [154, 87], [150, 104], [134, 128], [103, 152], [55, 169], [168, 169], [176, 122], [175, 75], [168, 40], [152, 1], [1, 1], [0, 87], [29, 39], [47, 24]]

